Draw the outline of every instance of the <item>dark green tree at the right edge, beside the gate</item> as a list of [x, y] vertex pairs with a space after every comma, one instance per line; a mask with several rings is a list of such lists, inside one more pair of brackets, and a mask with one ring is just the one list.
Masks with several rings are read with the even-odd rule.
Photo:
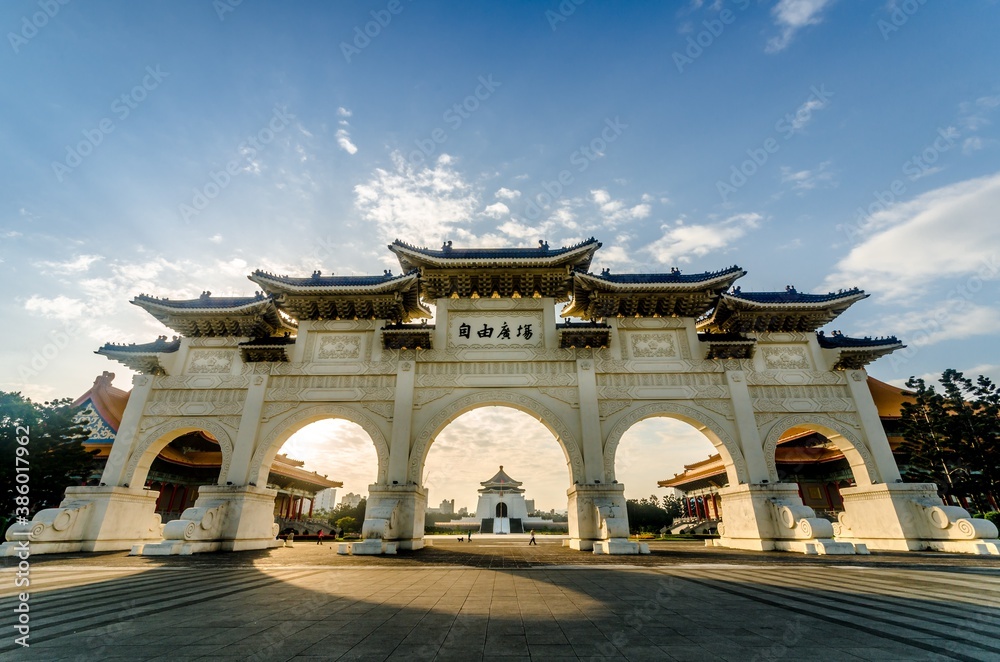
[[980, 375], [941, 374], [941, 390], [911, 377], [913, 402], [903, 404], [904, 473], [937, 483], [946, 497], [996, 510], [1000, 480], [1000, 391]]

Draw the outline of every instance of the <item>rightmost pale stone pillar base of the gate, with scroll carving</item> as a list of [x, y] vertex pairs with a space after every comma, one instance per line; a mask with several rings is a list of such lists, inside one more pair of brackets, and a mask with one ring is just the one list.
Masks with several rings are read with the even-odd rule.
[[1000, 555], [997, 527], [945, 506], [933, 483], [845, 487], [837, 540], [886, 551]]

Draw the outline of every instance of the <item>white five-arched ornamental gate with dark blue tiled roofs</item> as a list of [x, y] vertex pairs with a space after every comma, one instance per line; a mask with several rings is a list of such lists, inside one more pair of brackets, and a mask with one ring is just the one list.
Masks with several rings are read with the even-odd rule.
[[[574, 549], [640, 551], [627, 540], [615, 452], [632, 424], [665, 415], [694, 425], [725, 461], [722, 545], [997, 552], [992, 524], [942, 506], [934, 485], [900, 480], [863, 366], [902, 345], [817, 333], [867, 296], [860, 290], [743, 293], [733, 288], [746, 273], [739, 267], [596, 275], [594, 239], [560, 249], [389, 248], [402, 275], [257, 271], [255, 297], [137, 297], [181, 337], [99, 350], [142, 373], [102, 484], [68, 489], [59, 508], [15, 525], [8, 540], [30, 531], [32, 553], [273, 546], [271, 461], [295, 431], [336, 417], [364, 428], [378, 453], [353, 553], [417, 549], [430, 444], [462, 413], [507, 405], [537, 417], [565, 453]], [[563, 316], [583, 322], [557, 322], [564, 301]], [[418, 323], [432, 314], [434, 324]], [[781, 482], [775, 444], [792, 426], [822, 430], [853, 468], [836, 525]], [[218, 484], [161, 526], [146, 473], [192, 430], [219, 442]]]

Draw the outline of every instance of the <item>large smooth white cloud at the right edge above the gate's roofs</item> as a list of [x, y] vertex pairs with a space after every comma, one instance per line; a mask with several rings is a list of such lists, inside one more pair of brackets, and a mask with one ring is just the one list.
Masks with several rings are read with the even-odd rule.
[[876, 212], [861, 243], [837, 263], [826, 284], [907, 299], [945, 278], [994, 279], [1000, 271], [997, 209], [1000, 173]]

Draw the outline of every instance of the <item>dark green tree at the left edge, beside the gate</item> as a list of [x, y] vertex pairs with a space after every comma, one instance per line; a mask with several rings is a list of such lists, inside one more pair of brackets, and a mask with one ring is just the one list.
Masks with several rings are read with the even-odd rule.
[[[20, 393], [0, 392], [0, 515], [23, 516], [17, 468], [27, 467], [29, 514], [53, 508], [63, 492], [80, 485], [94, 470], [94, 455], [83, 447], [84, 428], [75, 420], [78, 409], [68, 398], [44, 404]], [[19, 440], [27, 439], [20, 444]], [[22, 479], [24, 480], [24, 479]], [[23, 489], [23, 488], [22, 488]], [[23, 503], [23, 502], [22, 502]]]

